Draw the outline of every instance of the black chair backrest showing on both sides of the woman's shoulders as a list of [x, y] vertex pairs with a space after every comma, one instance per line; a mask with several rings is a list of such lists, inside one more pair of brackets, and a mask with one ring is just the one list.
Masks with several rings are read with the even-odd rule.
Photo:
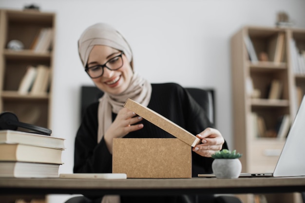
[[[186, 88], [197, 103], [207, 112], [207, 115], [215, 125], [214, 91], [212, 89]], [[81, 87], [81, 118], [88, 105], [98, 101], [104, 94], [95, 86]]]

